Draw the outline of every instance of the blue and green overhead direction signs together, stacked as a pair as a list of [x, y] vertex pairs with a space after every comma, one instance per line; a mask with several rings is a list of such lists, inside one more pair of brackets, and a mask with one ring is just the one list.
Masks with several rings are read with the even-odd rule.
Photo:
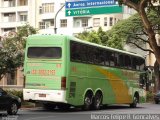
[[72, 0], [65, 3], [66, 16], [122, 13], [115, 0]]

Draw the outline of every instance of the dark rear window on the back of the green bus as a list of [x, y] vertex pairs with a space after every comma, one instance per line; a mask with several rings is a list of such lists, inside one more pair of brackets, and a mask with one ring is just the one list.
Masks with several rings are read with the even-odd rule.
[[29, 47], [28, 58], [60, 59], [62, 49], [60, 47]]

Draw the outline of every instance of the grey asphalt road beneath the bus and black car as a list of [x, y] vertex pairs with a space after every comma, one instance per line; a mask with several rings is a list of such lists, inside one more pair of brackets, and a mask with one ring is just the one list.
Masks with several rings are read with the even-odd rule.
[[127, 105], [112, 105], [101, 110], [82, 111], [71, 108], [68, 111], [47, 111], [43, 108], [20, 109], [16, 116], [0, 112], [2, 120], [160, 120], [160, 104], [139, 104], [137, 108]]

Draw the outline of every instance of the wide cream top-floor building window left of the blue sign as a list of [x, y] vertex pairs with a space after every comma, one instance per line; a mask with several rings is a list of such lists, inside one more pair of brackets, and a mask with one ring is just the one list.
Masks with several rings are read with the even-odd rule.
[[51, 12], [54, 12], [54, 3], [43, 3], [42, 13], [51, 13]]

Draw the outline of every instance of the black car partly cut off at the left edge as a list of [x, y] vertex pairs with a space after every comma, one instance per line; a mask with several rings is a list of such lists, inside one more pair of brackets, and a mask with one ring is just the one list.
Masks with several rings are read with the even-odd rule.
[[6, 110], [9, 115], [16, 115], [21, 107], [21, 99], [0, 88], [0, 110]]

